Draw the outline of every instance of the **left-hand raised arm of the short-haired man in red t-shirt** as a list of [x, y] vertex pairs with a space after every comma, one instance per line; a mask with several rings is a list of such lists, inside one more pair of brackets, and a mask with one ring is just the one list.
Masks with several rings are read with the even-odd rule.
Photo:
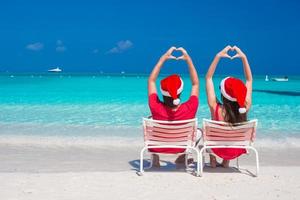
[[153, 68], [149, 78], [148, 78], [148, 95], [150, 96], [153, 93], [157, 93], [156, 90], [156, 79], [160, 72], [161, 67], [164, 62], [168, 59], [176, 59], [176, 57], [172, 56], [172, 52], [176, 49], [176, 47], [171, 47], [164, 55], [161, 56], [155, 67]]

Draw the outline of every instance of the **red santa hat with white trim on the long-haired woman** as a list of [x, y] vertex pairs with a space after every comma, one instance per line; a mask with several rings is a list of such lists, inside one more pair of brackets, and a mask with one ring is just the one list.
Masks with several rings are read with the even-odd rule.
[[220, 85], [222, 95], [229, 101], [234, 101], [239, 104], [239, 113], [246, 113], [245, 101], [247, 88], [243, 81], [233, 77], [224, 78]]

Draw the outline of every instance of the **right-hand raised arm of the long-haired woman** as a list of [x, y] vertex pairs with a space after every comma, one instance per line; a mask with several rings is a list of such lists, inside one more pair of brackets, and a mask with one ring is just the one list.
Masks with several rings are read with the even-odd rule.
[[237, 46], [234, 46], [232, 49], [237, 52], [237, 54], [235, 56], [233, 56], [232, 59], [233, 58], [241, 58], [241, 60], [243, 62], [244, 75], [246, 78], [246, 87], [247, 87], [246, 109], [248, 111], [252, 104], [252, 82], [253, 82], [253, 79], [252, 79], [251, 68], [250, 68], [247, 56], [244, 54], [244, 52], [242, 52], [242, 50], [240, 48], [238, 48]]

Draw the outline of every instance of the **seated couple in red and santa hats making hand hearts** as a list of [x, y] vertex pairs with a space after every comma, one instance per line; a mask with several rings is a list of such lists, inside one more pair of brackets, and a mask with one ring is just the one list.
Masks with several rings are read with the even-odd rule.
[[[176, 58], [172, 55], [173, 51], [181, 51], [182, 56]], [[235, 51], [236, 55], [231, 57], [228, 51]], [[243, 62], [246, 83], [234, 77], [227, 77], [220, 83], [221, 102], [218, 101], [212, 77], [221, 58], [240, 58]], [[160, 90], [163, 95], [163, 101], [160, 101], [156, 90], [156, 79], [164, 62], [168, 59], [185, 60], [188, 64], [192, 89], [190, 98], [187, 102], [180, 102], [180, 94], [183, 91], [183, 81], [178, 75], [171, 75], [160, 82]], [[247, 112], [251, 106], [252, 99], [252, 73], [246, 55], [237, 47], [226, 46], [222, 51], [217, 53], [206, 74], [206, 95], [207, 102], [211, 112], [211, 118], [216, 121], [228, 123], [238, 123], [247, 121]], [[180, 47], [171, 47], [158, 61], [152, 70], [148, 79], [148, 100], [155, 120], [187, 120], [196, 116], [199, 104], [199, 79], [196, 68], [187, 51]], [[184, 149], [160, 149], [150, 150], [153, 153], [182, 153]], [[229, 161], [246, 153], [245, 149], [211, 149], [210, 165], [217, 166], [216, 156], [223, 159], [221, 166], [228, 167]], [[179, 156], [175, 163], [184, 163], [185, 155]], [[153, 166], [160, 167], [159, 156], [153, 155]]]

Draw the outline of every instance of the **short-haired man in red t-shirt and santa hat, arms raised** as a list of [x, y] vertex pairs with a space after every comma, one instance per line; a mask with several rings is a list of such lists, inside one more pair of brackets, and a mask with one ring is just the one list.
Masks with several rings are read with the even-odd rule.
[[[176, 58], [172, 55], [173, 51], [181, 51], [182, 56]], [[189, 67], [190, 78], [192, 81], [192, 90], [190, 98], [185, 103], [180, 103], [180, 94], [183, 91], [183, 81], [180, 76], [174, 74], [161, 80], [160, 89], [163, 95], [163, 101], [160, 101], [156, 90], [156, 79], [160, 72], [164, 62], [169, 59], [185, 60]], [[152, 118], [156, 120], [187, 120], [195, 118], [198, 108], [198, 96], [199, 96], [199, 80], [197, 71], [192, 62], [191, 57], [188, 55], [185, 49], [171, 47], [158, 61], [152, 70], [148, 79], [148, 100], [149, 108], [152, 113]], [[151, 152], [157, 153], [182, 153], [184, 149], [151, 149]], [[183, 163], [185, 156], [179, 156], [176, 159], [176, 163]], [[160, 167], [159, 156], [153, 155], [153, 166]]]

